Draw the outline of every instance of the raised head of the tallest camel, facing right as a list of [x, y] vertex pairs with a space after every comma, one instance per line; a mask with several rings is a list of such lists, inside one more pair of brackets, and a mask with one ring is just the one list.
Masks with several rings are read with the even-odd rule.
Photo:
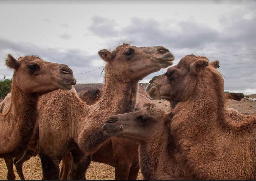
[[138, 81], [173, 64], [174, 56], [162, 46], [136, 47], [128, 44], [110, 52], [103, 49], [99, 56], [107, 62], [111, 74], [123, 82]]

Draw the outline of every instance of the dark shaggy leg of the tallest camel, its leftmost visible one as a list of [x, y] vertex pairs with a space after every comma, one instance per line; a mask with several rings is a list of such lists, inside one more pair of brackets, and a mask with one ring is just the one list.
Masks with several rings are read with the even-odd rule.
[[39, 154], [42, 163], [43, 178], [47, 180], [59, 179], [59, 163], [61, 159], [51, 158], [45, 154]]

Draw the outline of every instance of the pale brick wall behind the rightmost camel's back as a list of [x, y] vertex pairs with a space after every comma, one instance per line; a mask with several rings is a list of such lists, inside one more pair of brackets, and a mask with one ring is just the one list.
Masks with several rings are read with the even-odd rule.
[[236, 109], [242, 114], [252, 114], [255, 112], [255, 101], [249, 99], [242, 99], [241, 101], [229, 99], [228, 107]]

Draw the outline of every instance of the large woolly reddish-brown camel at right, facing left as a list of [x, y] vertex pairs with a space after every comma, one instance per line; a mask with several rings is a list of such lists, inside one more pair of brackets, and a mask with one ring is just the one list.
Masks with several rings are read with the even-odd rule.
[[255, 179], [255, 115], [233, 123], [223, 78], [208, 64], [185, 56], [156, 78], [163, 84], [150, 96], [173, 102], [170, 133], [193, 179]]

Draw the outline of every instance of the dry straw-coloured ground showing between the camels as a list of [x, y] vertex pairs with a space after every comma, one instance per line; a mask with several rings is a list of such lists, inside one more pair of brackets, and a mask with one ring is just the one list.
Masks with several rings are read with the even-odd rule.
[[[169, 102], [163, 100], [160, 103], [160, 100], [152, 100], [156, 105], [168, 111]], [[62, 162], [60, 162], [61, 168]], [[41, 161], [39, 156], [32, 157], [30, 160], [26, 161], [23, 164], [23, 173], [26, 179], [42, 179], [42, 168]], [[19, 175], [16, 172], [14, 166], [14, 174], [16, 179], [20, 179]], [[87, 172], [87, 179], [115, 179], [115, 168], [103, 163], [91, 162]], [[4, 159], [0, 158], [0, 179], [7, 179], [7, 167], [5, 165]], [[141, 172], [139, 172], [137, 179], [143, 179]]]

